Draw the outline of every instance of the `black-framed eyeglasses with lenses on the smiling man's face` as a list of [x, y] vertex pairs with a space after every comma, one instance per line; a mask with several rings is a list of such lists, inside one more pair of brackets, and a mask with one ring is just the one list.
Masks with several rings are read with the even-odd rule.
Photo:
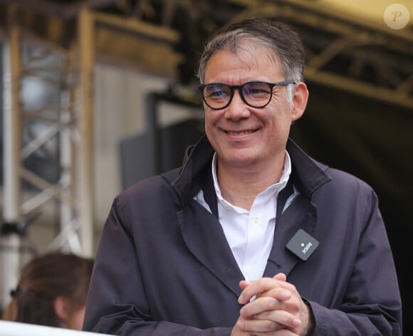
[[221, 110], [231, 104], [235, 89], [239, 90], [239, 95], [246, 105], [262, 108], [270, 103], [274, 87], [288, 84], [296, 84], [296, 82], [283, 80], [277, 83], [248, 82], [243, 85], [210, 83], [199, 85], [199, 90], [201, 90], [205, 104], [212, 110]]

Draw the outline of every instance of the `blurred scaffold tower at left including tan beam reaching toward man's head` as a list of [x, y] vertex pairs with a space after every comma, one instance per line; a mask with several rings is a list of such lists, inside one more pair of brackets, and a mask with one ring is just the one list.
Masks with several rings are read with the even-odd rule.
[[[133, 60], [153, 73], [176, 78], [177, 63], [182, 58], [173, 48], [179, 34], [136, 19], [120, 19], [90, 10], [113, 2], [43, 3], [36, 7], [31, 1], [16, 4], [0, 0], [0, 9], [3, 3], [6, 5], [2, 8], [7, 11], [6, 23], [0, 27], [4, 30], [1, 307], [9, 300], [9, 290], [16, 285], [23, 264], [21, 251], [26, 227], [48, 202], [58, 203], [60, 226], [46, 249], [63, 248], [93, 255], [96, 55], [99, 53], [109, 62], [122, 59], [131, 63]], [[46, 31], [28, 26], [28, 22], [40, 18], [45, 20], [40, 26], [46, 26]], [[142, 50], [155, 53], [142, 53]], [[43, 85], [51, 85], [58, 99], [40, 107], [28, 107], [22, 86], [33, 78]], [[39, 153], [47, 157], [48, 162], [54, 162], [58, 171], [56, 179], [48, 179], [27, 164]]]

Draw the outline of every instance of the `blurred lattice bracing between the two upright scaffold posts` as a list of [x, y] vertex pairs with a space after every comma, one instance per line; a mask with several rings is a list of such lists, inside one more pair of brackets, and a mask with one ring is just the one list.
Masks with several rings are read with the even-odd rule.
[[[58, 100], [45, 102], [46, 105], [36, 109], [28, 109], [25, 107], [24, 96], [22, 97], [20, 113], [23, 147], [20, 152], [20, 177], [35, 192], [25, 201], [22, 200], [20, 213], [23, 218], [30, 218], [46, 202], [57, 200], [61, 204], [61, 233], [53, 240], [51, 248], [61, 248], [66, 243], [71, 251], [80, 253], [82, 248], [76, 232], [79, 227], [76, 216], [78, 204], [75, 204], [73, 188], [75, 152], [80, 140], [77, 136], [78, 117], [74, 104], [75, 84], [78, 80], [72, 78], [73, 60], [68, 53], [59, 55], [42, 46], [26, 44], [23, 48], [28, 53], [23, 52], [21, 83], [28, 78], [38, 80], [43, 83], [43, 87], [55, 88]], [[44, 162], [56, 162], [56, 181], [50, 181], [39, 172], [26, 167], [24, 162], [30, 161], [36, 154], [43, 157]]]

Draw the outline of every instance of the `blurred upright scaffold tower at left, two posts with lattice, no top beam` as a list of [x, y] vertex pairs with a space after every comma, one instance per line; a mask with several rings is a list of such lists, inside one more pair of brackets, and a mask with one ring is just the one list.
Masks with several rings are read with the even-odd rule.
[[[3, 307], [21, 267], [21, 241], [32, 216], [48, 201], [60, 204], [60, 231], [48, 249], [93, 254], [93, 24], [80, 11], [77, 41], [70, 48], [26, 41], [16, 8], [9, 7], [3, 48], [4, 209], [1, 227]], [[52, 60], [52, 61], [51, 61]], [[27, 107], [26, 80], [51, 85], [58, 99]], [[51, 142], [55, 145], [51, 146]], [[41, 154], [56, 162], [56, 180], [26, 164]], [[23, 185], [26, 188], [23, 188]], [[29, 189], [27, 192], [25, 189]]]

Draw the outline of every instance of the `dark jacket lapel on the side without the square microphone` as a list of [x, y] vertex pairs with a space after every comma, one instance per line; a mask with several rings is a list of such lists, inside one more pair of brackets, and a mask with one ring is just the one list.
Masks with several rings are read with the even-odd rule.
[[[187, 151], [182, 172], [172, 182], [172, 187], [177, 189], [182, 202], [182, 210], [177, 212], [178, 224], [189, 251], [238, 297], [241, 294], [239, 281], [244, 279], [244, 275], [217, 219], [211, 172], [214, 149], [206, 137], [202, 137], [196, 147], [200, 147], [198, 151]], [[200, 189], [204, 192], [204, 199], [212, 214], [192, 199]]]

